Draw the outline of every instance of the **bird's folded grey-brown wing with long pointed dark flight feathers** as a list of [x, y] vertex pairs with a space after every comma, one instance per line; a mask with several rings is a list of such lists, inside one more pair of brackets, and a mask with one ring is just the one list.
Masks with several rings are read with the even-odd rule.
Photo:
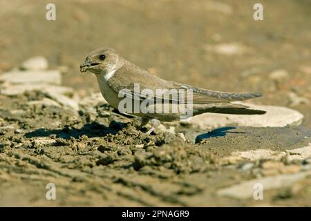
[[225, 93], [194, 88], [187, 84], [166, 81], [137, 66], [134, 67], [122, 67], [109, 79], [108, 84], [116, 93], [122, 92], [126, 97], [139, 100], [162, 99], [168, 102], [193, 104], [228, 103], [261, 97], [261, 93]]

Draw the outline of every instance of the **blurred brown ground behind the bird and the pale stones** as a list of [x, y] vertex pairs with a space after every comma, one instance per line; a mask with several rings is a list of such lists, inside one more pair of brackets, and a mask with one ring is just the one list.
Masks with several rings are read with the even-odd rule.
[[[151, 73], [211, 90], [264, 93], [259, 104], [290, 106], [311, 126], [311, 1], [11, 0], [0, 2], [0, 71], [42, 55], [62, 67], [80, 97], [99, 91], [79, 73], [86, 55], [118, 50]], [[56, 20], [46, 20], [55, 3]]]

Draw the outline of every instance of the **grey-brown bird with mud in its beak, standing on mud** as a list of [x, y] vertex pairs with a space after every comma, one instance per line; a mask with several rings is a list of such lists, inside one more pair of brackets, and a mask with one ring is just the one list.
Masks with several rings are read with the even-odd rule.
[[232, 103], [261, 97], [261, 93], [228, 93], [165, 80], [132, 64], [112, 48], [93, 50], [80, 65], [80, 71], [95, 74], [104, 99], [113, 108], [120, 113], [142, 117], [138, 129], [150, 122], [148, 135], [160, 122], [173, 122], [185, 116], [265, 114], [265, 111]]

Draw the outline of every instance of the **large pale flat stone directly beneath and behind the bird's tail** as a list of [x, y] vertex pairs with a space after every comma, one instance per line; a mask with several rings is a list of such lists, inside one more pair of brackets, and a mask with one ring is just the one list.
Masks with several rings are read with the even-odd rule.
[[298, 126], [301, 124], [303, 115], [298, 111], [281, 106], [263, 106], [236, 102], [249, 106], [252, 109], [267, 111], [264, 115], [227, 115], [216, 113], [203, 113], [182, 119], [182, 123], [191, 124], [200, 129], [211, 129], [225, 126], [254, 126], [254, 127], [284, 127]]

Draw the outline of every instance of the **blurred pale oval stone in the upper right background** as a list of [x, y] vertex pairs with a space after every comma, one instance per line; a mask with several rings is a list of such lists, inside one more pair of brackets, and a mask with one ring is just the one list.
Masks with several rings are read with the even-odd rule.
[[229, 43], [218, 45], [205, 45], [205, 50], [215, 52], [220, 55], [241, 55], [247, 51], [245, 46], [241, 44]]

